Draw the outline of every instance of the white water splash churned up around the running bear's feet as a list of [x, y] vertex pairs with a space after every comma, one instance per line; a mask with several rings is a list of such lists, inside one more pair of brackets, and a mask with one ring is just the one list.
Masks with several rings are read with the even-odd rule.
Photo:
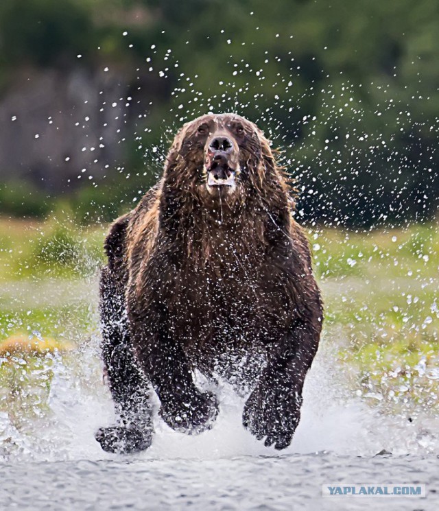
[[[99, 338], [86, 342], [72, 364], [58, 359], [49, 399], [50, 412], [14, 428], [0, 415], [0, 460], [59, 461], [120, 459], [104, 453], [93, 433], [114, 420], [110, 393], [101, 377]], [[305, 384], [302, 419], [292, 445], [285, 451], [263, 447], [241, 425], [243, 399], [220, 383], [219, 416], [210, 431], [187, 436], [171, 430], [155, 413], [152, 447], [128, 460], [200, 459], [241, 456], [280, 456], [331, 451], [337, 455], [375, 455], [385, 449], [394, 454], [439, 452], [436, 422], [419, 416], [410, 423], [401, 416], [383, 416], [360, 399], [351, 398], [331, 366], [331, 350], [322, 346]], [[155, 401], [156, 411], [158, 400]]]

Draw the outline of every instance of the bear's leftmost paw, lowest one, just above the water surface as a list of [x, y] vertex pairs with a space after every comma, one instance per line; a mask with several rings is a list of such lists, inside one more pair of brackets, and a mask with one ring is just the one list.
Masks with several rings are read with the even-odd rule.
[[95, 433], [95, 438], [107, 453], [131, 454], [150, 447], [152, 431], [134, 426], [102, 427]]

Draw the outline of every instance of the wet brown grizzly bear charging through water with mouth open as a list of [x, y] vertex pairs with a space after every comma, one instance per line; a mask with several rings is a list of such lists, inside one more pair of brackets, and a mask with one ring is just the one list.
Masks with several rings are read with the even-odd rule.
[[218, 413], [195, 370], [248, 399], [243, 424], [284, 449], [300, 419], [322, 302], [287, 178], [261, 130], [235, 114], [182, 127], [163, 177], [116, 220], [102, 271], [102, 356], [118, 423], [96, 439], [130, 453], [159, 414], [186, 433]]

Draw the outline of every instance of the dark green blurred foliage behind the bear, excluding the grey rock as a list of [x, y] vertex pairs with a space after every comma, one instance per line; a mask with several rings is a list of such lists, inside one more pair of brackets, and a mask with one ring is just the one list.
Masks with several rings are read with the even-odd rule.
[[[424, 220], [439, 203], [438, 30], [433, 0], [355, 8], [342, 0], [2, 0], [0, 77], [20, 64], [75, 66], [82, 54], [88, 66], [124, 62], [163, 83], [141, 91], [152, 106], [129, 156], [139, 179], [119, 187], [115, 169], [108, 183], [73, 195], [82, 221], [109, 219], [132, 202], [154, 180], [150, 169], [142, 181], [139, 156], [165, 149], [183, 121], [208, 110], [246, 115], [285, 149], [305, 218]], [[45, 214], [32, 200], [28, 211], [0, 202], [17, 215]]]

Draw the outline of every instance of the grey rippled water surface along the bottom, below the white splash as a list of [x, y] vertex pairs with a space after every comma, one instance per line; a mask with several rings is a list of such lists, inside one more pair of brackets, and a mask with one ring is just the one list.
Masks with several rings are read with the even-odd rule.
[[[333, 454], [0, 466], [1, 506], [23, 510], [438, 509], [438, 460]], [[429, 474], [429, 475], [428, 475]], [[323, 499], [322, 482], [423, 482], [427, 499]]]

